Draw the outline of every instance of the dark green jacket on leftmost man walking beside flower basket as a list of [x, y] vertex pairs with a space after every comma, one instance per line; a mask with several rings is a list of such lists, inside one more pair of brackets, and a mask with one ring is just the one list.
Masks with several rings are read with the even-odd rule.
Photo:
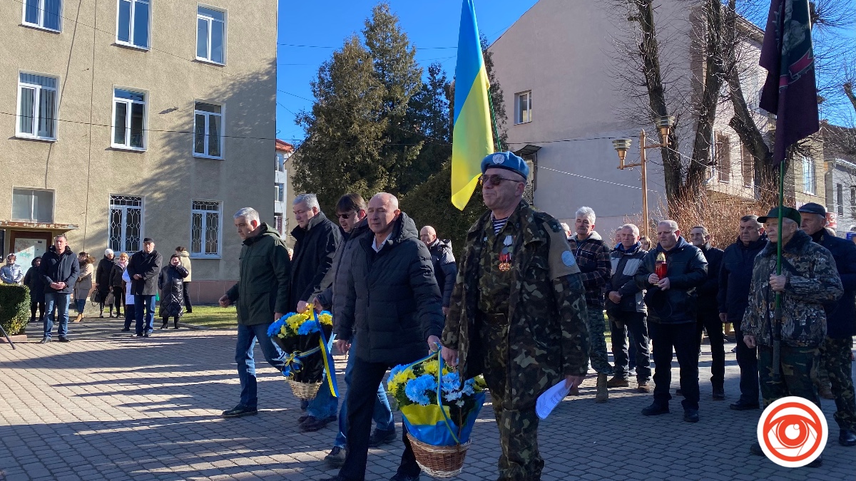
[[291, 259], [276, 230], [262, 223], [259, 235], [241, 247], [238, 282], [226, 293], [237, 307], [238, 324], [270, 324], [288, 312]]

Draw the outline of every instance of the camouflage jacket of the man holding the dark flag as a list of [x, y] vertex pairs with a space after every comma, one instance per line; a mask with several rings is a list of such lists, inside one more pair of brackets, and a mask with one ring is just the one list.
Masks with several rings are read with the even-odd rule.
[[[773, 312], [776, 293], [770, 289], [770, 275], [776, 274], [776, 244], [770, 242], [755, 257], [749, 306], [740, 329], [755, 336], [762, 346], [772, 346]], [[782, 247], [782, 274], [788, 283], [782, 293], [782, 344], [818, 347], [826, 338], [823, 303], [841, 297], [841, 277], [832, 254], [801, 230]]]

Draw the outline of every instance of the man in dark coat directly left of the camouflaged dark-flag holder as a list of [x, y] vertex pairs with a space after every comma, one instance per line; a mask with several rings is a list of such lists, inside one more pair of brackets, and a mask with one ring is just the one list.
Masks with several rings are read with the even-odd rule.
[[748, 347], [743, 342], [743, 313], [749, 305], [749, 288], [752, 285], [752, 267], [755, 256], [767, 246], [764, 226], [758, 216], [740, 217], [740, 235], [734, 244], [722, 253], [719, 270], [719, 290], [716, 301], [719, 305], [719, 320], [734, 325], [737, 339], [737, 365], [740, 366], [740, 399], [728, 407], [735, 411], [758, 409], [758, 347]]

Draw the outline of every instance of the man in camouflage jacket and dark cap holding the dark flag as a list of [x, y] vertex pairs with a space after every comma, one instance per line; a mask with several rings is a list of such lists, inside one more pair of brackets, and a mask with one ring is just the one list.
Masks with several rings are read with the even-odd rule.
[[[758, 346], [758, 378], [764, 407], [788, 395], [800, 396], [820, 406], [812, 371], [817, 369], [818, 347], [826, 338], [824, 303], [841, 297], [841, 277], [832, 254], [800, 230], [800, 212], [782, 207], [782, 275], [776, 276], [776, 242], [780, 229], [779, 208], [758, 217], [770, 243], [755, 258], [749, 306], [741, 330], [746, 346]], [[776, 293], [782, 293], [782, 322], [773, 323]], [[773, 374], [774, 330], [781, 332], [780, 375]], [[752, 454], [764, 455], [758, 442]], [[821, 466], [817, 458], [809, 466]]]

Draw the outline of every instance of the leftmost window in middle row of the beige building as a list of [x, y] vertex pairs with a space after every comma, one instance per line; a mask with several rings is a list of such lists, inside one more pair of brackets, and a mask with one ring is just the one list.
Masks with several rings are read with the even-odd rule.
[[19, 74], [15, 135], [56, 140], [56, 77]]

